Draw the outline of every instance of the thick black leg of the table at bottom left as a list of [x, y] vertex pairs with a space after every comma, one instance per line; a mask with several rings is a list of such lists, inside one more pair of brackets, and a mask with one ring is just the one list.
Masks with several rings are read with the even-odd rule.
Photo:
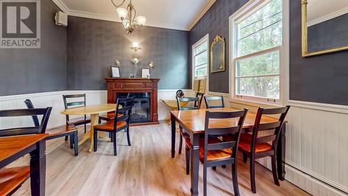
[[45, 195], [46, 181], [46, 143], [36, 143], [36, 149], [30, 153], [31, 195]]

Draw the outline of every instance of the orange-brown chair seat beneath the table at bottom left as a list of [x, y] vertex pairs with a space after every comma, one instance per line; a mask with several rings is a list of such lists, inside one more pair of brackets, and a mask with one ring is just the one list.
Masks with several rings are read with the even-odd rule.
[[29, 175], [29, 166], [0, 169], [0, 195], [9, 195], [29, 179]]

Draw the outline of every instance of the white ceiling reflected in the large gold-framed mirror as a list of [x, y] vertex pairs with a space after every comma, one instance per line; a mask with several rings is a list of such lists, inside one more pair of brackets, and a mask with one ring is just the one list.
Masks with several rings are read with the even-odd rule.
[[348, 13], [347, 0], [308, 0], [308, 24], [314, 25]]

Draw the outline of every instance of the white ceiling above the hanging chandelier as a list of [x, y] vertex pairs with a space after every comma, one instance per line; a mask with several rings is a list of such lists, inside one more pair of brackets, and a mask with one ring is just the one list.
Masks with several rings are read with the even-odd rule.
[[[52, 0], [68, 15], [120, 22], [111, 0]], [[137, 15], [147, 18], [145, 26], [189, 30], [216, 0], [132, 0]], [[114, 0], [121, 3], [122, 0]], [[125, 1], [126, 8], [129, 0]]]

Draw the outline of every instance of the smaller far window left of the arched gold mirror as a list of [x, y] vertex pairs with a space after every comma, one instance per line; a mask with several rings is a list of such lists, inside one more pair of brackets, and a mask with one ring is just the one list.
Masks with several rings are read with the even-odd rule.
[[207, 76], [208, 73], [208, 43], [209, 35], [192, 46], [193, 58], [193, 79], [200, 79]]

